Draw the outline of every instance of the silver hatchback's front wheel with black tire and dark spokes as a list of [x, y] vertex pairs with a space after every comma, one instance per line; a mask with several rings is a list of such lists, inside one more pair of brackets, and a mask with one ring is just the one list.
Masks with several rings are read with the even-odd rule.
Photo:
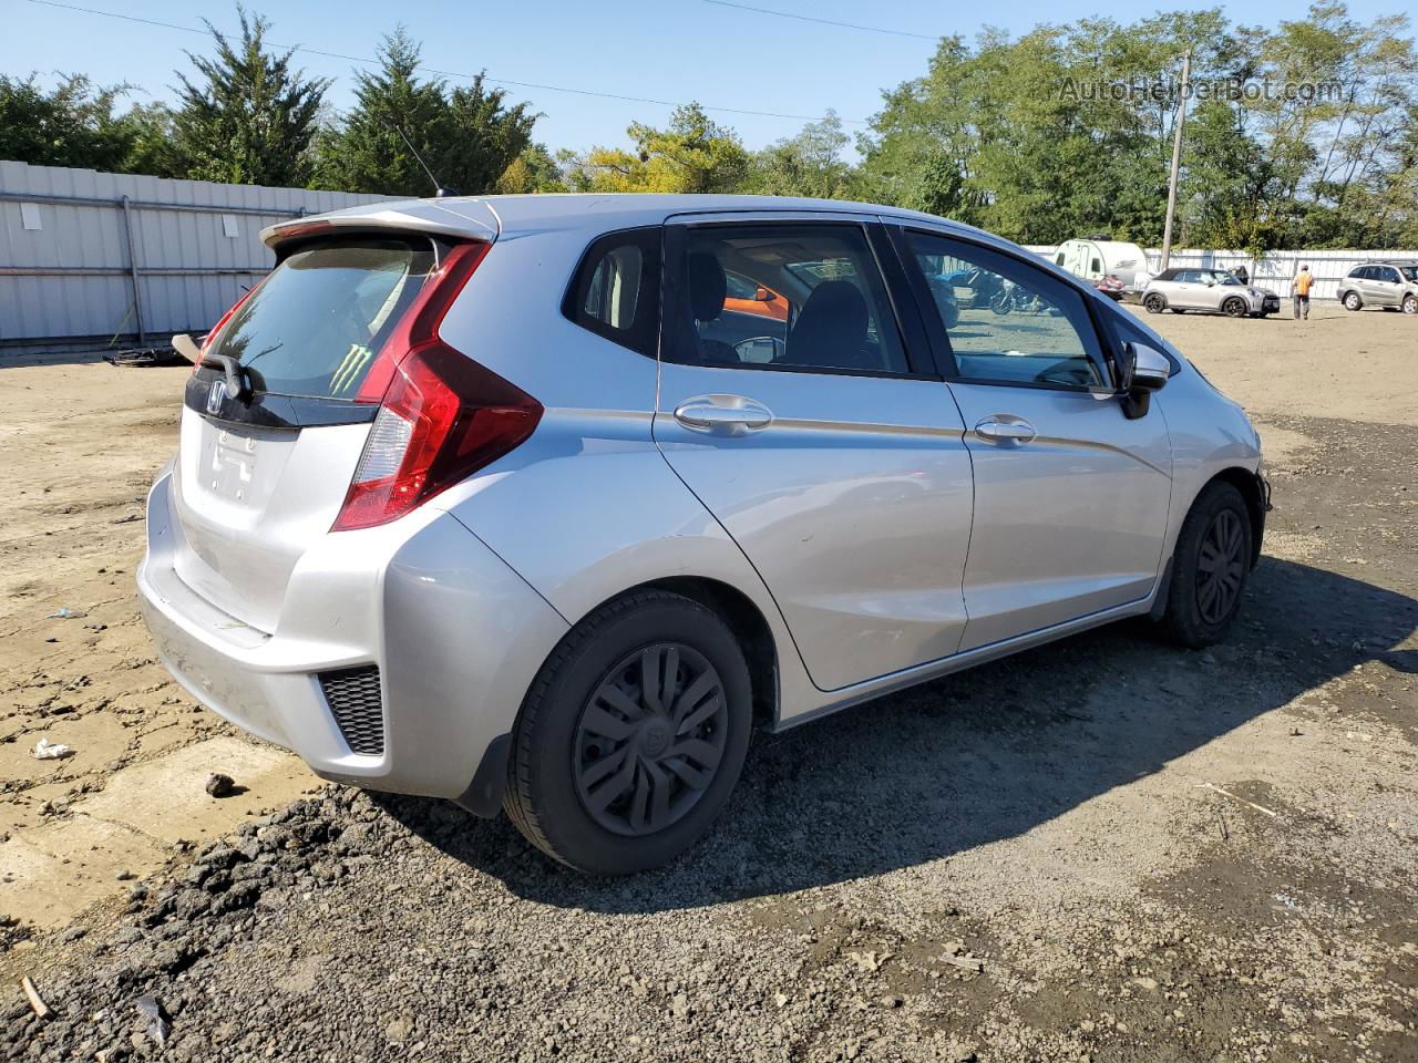
[[1161, 618], [1168, 639], [1201, 649], [1227, 636], [1251, 575], [1251, 513], [1241, 492], [1212, 480], [1191, 505], [1177, 536]]

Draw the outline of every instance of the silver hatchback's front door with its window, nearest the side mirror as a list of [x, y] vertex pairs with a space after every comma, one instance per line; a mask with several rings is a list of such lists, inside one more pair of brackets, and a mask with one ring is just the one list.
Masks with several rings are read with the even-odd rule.
[[[927, 336], [966, 425], [974, 522], [961, 651], [1146, 598], [1171, 499], [1171, 439], [1153, 404], [1129, 420], [1113, 397], [1110, 344], [1090, 296], [997, 247], [893, 231]], [[953, 327], [920, 299], [942, 255], [1038, 295], [1038, 315], [961, 312]]]

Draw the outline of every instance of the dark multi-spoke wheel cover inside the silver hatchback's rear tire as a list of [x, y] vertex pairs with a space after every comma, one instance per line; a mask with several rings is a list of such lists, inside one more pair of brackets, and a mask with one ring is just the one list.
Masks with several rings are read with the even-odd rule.
[[617, 835], [679, 822], [713, 782], [729, 736], [723, 680], [696, 649], [657, 642], [621, 658], [581, 707], [576, 794]]

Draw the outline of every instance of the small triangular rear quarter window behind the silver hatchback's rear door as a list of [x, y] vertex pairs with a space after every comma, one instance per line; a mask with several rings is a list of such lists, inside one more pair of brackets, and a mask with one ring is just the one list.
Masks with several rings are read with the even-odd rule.
[[583, 329], [655, 357], [659, 325], [659, 228], [610, 232], [591, 244], [562, 312]]

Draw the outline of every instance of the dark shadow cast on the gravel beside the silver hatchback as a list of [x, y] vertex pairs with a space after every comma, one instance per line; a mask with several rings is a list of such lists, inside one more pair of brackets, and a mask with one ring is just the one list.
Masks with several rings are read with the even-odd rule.
[[[649, 913], [773, 896], [1024, 833], [1364, 660], [1412, 673], [1415, 631], [1414, 598], [1266, 558], [1238, 628], [1212, 651], [1177, 649], [1146, 621], [1123, 622], [757, 736], [709, 836], [669, 867], [627, 879], [554, 865], [506, 818], [377, 801], [450, 856], [557, 907]], [[1383, 704], [1346, 712], [1392, 716]]]

